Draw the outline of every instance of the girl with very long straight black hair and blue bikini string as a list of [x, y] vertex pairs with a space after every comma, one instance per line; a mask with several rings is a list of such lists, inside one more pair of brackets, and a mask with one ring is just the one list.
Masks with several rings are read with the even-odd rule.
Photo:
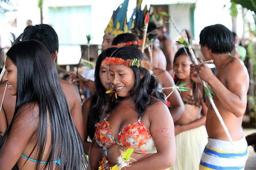
[[34, 40], [15, 44], [5, 67], [16, 106], [0, 143], [0, 169], [89, 169], [47, 48]]

